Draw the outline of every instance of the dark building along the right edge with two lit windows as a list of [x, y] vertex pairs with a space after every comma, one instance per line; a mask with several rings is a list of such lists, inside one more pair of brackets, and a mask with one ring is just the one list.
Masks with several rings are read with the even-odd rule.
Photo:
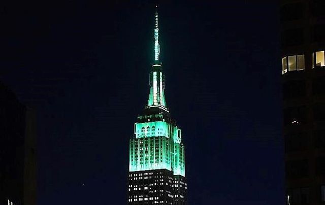
[[325, 203], [325, 1], [281, 0], [287, 202]]

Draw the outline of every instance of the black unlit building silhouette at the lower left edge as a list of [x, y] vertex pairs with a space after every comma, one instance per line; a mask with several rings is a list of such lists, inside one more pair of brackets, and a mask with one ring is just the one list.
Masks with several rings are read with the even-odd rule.
[[36, 205], [36, 115], [0, 83], [0, 205]]

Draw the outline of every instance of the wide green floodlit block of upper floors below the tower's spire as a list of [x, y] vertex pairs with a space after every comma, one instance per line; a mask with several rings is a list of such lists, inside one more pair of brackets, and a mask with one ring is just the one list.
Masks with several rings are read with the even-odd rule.
[[135, 123], [129, 143], [129, 171], [168, 169], [185, 177], [181, 130], [164, 121]]

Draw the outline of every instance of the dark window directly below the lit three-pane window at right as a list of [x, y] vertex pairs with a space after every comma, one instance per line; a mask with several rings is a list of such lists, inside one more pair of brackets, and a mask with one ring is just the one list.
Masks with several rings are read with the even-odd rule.
[[305, 81], [289, 81], [283, 84], [283, 99], [306, 96]]

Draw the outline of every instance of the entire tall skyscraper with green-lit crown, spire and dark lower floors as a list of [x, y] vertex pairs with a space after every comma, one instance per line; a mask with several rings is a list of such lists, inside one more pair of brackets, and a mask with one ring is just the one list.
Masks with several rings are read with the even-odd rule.
[[166, 106], [163, 66], [159, 62], [157, 11], [154, 39], [149, 100], [129, 142], [128, 204], [185, 205], [184, 145], [181, 129]]

